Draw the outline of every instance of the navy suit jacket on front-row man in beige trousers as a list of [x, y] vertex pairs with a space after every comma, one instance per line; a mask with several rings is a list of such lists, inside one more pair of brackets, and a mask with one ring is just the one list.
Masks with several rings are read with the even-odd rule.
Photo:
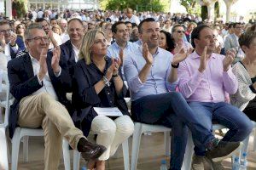
[[[51, 68], [51, 58], [52, 53], [49, 52], [46, 59], [49, 78], [59, 101], [68, 110], [71, 108], [71, 103], [67, 100], [66, 92], [72, 90], [72, 83], [67, 71], [67, 62], [65, 59], [60, 59], [61, 75], [60, 77], [55, 77], [54, 71]], [[39, 84], [38, 77], [34, 76], [32, 60], [27, 52], [9, 61], [8, 77], [10, 93], [15, 97], [15, 102], [10, 106], [9, 111], [9, 135], [12, 138], [15, 133], [15, 127], [17, 126], [20, 99], [31, 95], [43, 86]]]

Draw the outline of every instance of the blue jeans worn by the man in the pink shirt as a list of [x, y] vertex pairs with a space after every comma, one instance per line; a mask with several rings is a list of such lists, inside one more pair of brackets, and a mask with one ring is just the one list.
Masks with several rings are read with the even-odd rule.
[[[195, 116], [201, 117], [201, 122], [212, 131], [212, 122], [228, 127], [230, 130], [222, 140], [238, 142], [246, 139], [253, 130], [250, 119], [238, 108], [225, 102], [189, 102], [189, 106], [194, 111]], [[195, 155], [205, 156], [206, 147], [195, 145]]]

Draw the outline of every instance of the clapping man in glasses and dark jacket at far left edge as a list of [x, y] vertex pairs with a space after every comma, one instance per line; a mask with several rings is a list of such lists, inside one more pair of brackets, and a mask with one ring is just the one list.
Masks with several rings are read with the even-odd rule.
[[23, 40], [11, 31], [7, 20], [0, 21], [0, 43], [8, 60], [14, 59], [19, 51], [25, 49]]

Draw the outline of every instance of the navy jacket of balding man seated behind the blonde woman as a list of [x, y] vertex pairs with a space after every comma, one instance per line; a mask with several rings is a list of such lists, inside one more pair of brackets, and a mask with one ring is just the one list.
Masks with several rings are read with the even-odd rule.
[[73, 46], [70, 40], [61, 44], [61, 56], [67, 60], [67, 67], [69, 74], [73, 77], [74, 65], [76, 65], [76, 60], [74, 56]]

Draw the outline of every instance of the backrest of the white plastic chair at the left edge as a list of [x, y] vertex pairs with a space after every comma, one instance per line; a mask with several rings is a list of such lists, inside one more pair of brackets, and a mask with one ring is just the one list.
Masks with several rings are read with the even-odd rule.
[[0, 74], [2, 75], [2, 93], [6, 93], [4, 100], [0, 101], [0, 106], [5, 108], [4, 121], [0, 124], [0, 127], [7, 127], [10, 106], [9, 79], [7, 71], [0, 71]]

